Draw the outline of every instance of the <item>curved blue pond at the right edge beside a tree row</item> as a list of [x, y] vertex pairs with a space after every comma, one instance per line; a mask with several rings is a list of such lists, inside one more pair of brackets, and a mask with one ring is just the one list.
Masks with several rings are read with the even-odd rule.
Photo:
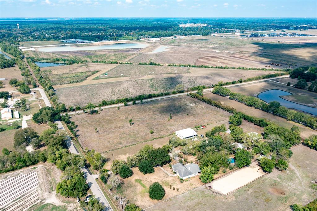
[[272, 89], [265, 92], [262, 92], [258, 95], [258, 98], [262, 99], [263, 101], [269, 103], [272, 101], [279, 102], [282, 106], [287, 108], [293, 108], [299, 111], [307, 112], [313, 115], [317, 115], [317, 108], [309, 107], [306, 105], [301, 105], [298, 103], [294, 103], [292, 101], [286, 100], [281, 98], [281, 96], [291, 95], [292, 93], [285, 92], [279, 89]]

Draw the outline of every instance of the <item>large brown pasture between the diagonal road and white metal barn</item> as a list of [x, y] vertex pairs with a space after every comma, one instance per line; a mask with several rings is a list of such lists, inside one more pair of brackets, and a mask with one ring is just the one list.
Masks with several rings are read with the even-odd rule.
[[[182, 96], [121, 107], [120, 110], [107, 109], [100, 114], [81, 114], [71, 120], [78, 125], [77, 134], [84, 148], [104, 152], [196, 125], [217, 123], [228, 117], [228, 112]], [[130, 119], [133, 125], [129, 124]], [[150, 130], [154, 133], [151, 134]]]

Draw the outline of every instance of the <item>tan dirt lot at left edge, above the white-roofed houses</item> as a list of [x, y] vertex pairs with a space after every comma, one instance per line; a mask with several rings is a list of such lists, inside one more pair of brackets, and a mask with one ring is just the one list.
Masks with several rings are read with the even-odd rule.
[[1, 75], [1, 78], [6, 79], [6, 80], [1, 80], [3, 82], [4, 87], [0, 89], [0, 92], [12, 91], [15, 89], [9, 84], [9, 81], [11, 78], [16, 78], [18, 80], [23, 79], [23, 76], [21, 75], [21, 71], [19, 70], [17, 66], [0, 69], [0, 75]]

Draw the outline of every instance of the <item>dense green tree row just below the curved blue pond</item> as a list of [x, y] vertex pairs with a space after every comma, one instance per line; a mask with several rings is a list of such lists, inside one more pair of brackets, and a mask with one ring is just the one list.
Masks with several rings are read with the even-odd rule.
[[292, 120], [294, 122], [301, 123], [305, 126], [313, 128], [314, 130], [317, 129], [317, 118], [314, 118], [309, 114], [288, 109], [285, 106], [281, 106], [279, 102], [273, 101], [267, 104], [256, 97], [246, 96], [240, 93], [234, 93], [231, 92], [230, 89], [224, 88], [222, 86], [215, 87], [212, 90], [212, 93], [221, 96], [229, 96], [230, 99], [234, 99], [245, 105], [261, 109], [265, 112], [273, 113], [275, 115], [278, 115], [282, 118], [286, 118], [288, 120]]

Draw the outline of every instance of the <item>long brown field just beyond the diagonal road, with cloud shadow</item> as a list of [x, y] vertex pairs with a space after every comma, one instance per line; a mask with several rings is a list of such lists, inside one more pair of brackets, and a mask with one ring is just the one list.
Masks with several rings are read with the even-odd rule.
[[[131, 71], [139, 65], [127, 65]], [[142, 67], [142, 66], [141, 66]], [[149, 72], [162, 71], [165, 66], [145, 67]], [[182, 68], [182, 67], [179, 67]], [[172, 68], [172, 70], [177, 68]], [[147, 70], [147, 71], [148, 71]], [[112, 70], [111, 70], [112, 71]], [[109, 74], [111, 74], [111, 71]], [[123, 70], [121, 70], [123, 71]], [[184, 68], [186, 71], [186, 68]], [[137, 71], [136, 71], [137, 72]], [[144, 93], [160, 93], [174, 90], [178, 84], [183, 84], [187, 88], [218, 83], [222, 81], [233, 81], [247, 79], [254, 76], [274, 73], [273, 71], [257, 70], [231, 70], [231, 69], [211, 69], [211, 68], [190, 68], [190, 73], [157, 74], [146, 76], [127, 76], [118, 78], [108, 78], [100, 80], [87, 80], [76, 83], [54, 86], [56, 96], [65, 105], [86, 105], [89, 102], [99, 103], [102, 100], [118, 99], [123, 97], [135, 97]], [[120, 72], [119, 72], [120, 74]], [[101, 74], [95, 74], [94, 77]], [[72, 93], [69, 95], [69, 93]]]

